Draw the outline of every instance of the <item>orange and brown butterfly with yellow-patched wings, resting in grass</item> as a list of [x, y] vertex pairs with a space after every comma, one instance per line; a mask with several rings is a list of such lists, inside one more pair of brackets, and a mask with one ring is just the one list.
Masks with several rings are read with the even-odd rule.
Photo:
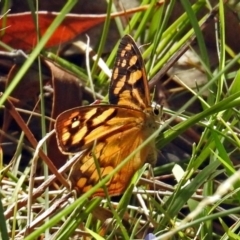
[[[60, 150], [68, 154], [85, 150], [70, 175], [70, 181], [78, 193], [87, 192], [110, 174], [158, 129], [160, 118], [160, 107], [151, 106], [141, 53], [132, 37], [126, 35], [119, 44], [113, 68], [109, 104], [73, 108], [56, 119]], [[106, 184], [108, 194], [114, 196], [123, 193], [134, 173], [146, 162], [155, 161], [153, 140], [111, 178]], [[104, 189], [99, 188], [93, 196], [105, 196]]]

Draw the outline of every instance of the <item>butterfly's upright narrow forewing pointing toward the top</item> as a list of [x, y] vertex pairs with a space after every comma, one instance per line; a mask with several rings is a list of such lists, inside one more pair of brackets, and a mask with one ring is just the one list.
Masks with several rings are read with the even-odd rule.
[[109, 102], [141, 110], [151, 105], [144, 62], [129, 35], [119, 44], [109, 86]]

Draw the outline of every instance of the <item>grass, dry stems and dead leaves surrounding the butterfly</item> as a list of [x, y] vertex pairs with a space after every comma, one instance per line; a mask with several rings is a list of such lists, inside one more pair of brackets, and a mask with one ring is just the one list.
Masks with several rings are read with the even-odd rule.
[[[239, 9], [222, 0], [1, 1], [2, 239], [240, 239]], [[119, 198], [89, 198], [99, 184], [76, 198], [48, 133], [62, 111], [107, 100], [126, 33], [164, 106], [158, 163]]]

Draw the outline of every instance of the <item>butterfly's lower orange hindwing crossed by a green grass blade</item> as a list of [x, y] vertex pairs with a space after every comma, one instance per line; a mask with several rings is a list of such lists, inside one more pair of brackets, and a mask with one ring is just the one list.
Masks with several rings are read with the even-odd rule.
[[[128, 126], [127, 128], [125, 126], [123, 131], [96, 141], [96, 145], [86, 150], [76, 162], [70, 174], [70, 180], [78, 194], [87, 192], [100, 179], [110, 174], [144, 139], [145, 136], [138, 126]], [[149, 151], [151, 151], [150, 145], [141, 149], [110, 179], [106, 184], [110, 196], [124, 192], [134, 173], [146, 162]], [[97, 164], [95, 164], [96, 161]], [[93, 196], [105, 196], [104, 189], [99, 188]]]

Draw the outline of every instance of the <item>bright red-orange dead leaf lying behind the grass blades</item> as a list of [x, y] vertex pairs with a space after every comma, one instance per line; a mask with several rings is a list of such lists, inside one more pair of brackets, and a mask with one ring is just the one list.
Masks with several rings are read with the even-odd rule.
[[[112, 14], [111, 18], [144, 11], [148, 5]], [[37, 12], [39, 31], [42, 36], [59, 13]], [[106, 14], [67, 14], [61, 25], [49, 39], [46, 47], [58, 46], [87, 31], [106, 19]], [[0, 19], [2, 28], [0, 40], [16, 49], [30, 50], [37, 44], [36, 25], [31, 12], [9, 14]]]

